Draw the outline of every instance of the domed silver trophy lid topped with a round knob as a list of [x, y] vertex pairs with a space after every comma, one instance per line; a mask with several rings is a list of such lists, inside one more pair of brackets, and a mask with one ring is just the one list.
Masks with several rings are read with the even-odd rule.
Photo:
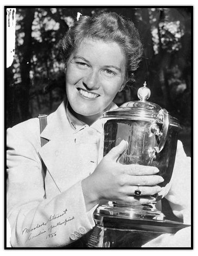
[[[143, 120], [151, 122], [157, 120], [157, 122], [163, 123], [163, 116], [160, 115], [160, 110], [162, 110], [162, 108], [153, 102], [147, 101], [150, 97], [150, 89], [146, 86], [147, 83], [144, 82], [144, 86], [137, 91], [137, 96], [140, 101], [128, 101], [117, 109], [105, 112], [102, 118]], [[163, 111], [168, 113], [166, 109], [163, 109]], [[171, 126], [181, 128], [179, 120], [170, 115], [169, 118]]]

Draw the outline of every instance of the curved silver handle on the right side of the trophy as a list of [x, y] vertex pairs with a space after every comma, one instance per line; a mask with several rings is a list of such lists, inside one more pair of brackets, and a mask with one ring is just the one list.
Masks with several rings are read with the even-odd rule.
[[[150, 150], [149, 156], [152, 159], [156, 158], [156, 154], [160, 153], [167, 141], [168, 127], [170, 124], [170, 117], [166, 109], [161, 109], [157, 115], [157, 122], [163, 122], [162, 130], [159, 136], [161, 136], [160, 143], [158, 147], [154, 147]], [[162, 134], [162, 135], [161, 135]]]

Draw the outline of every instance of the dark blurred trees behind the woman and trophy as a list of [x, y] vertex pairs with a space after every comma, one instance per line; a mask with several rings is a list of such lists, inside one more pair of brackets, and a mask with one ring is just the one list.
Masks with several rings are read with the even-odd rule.
[[137, 89], [146, 81], [151, 90], [149, 101], [180, 120], [180, 140], [190, 156], [193, 8], [89, 7], [16, 9], [16, 54], [6, 69], [6, 127], [38, 114], [50, 114], [62, 102], [65, 77], [61, 41], [77, 12], [93, 16], [101, 10], [114, 11], [135, 23], [144, 47], [136, 82], [118, 93], [115, 103], [120, 106], [138, 100]]

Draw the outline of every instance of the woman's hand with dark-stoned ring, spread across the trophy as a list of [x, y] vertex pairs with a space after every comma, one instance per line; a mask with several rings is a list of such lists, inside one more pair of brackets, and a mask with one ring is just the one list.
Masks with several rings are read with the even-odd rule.
[[[87, 211], [100, 200], [123, 201], [127, 204], [147, 204], [155, 199], [150, 195], [162, 189], [156, 186], [163, 178], [155, 175], [159, 169], [151, 166], [122, 165], [118, 159], [128, 147], [126, 141], [114, 147], [105, 155], [93, 174], [82, 180], [82, 189]], [[135, 196], [136, 189], [141, 196]]]

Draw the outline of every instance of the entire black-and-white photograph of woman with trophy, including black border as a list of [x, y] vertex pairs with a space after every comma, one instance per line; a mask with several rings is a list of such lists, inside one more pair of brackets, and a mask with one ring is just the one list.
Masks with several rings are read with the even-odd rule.
[[193, 249], [194, 6], [4, 6], [4, 249]]

